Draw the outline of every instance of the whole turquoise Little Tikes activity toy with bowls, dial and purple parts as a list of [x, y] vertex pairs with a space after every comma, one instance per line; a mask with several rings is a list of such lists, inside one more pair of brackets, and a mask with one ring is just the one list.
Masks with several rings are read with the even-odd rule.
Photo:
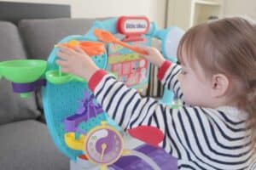
[[[12, 82], [14, 92], [21, 97], [42, 88], [49, 133], [61, 153], [77, 162], [77, 166], [79, 162], [90, 161], [102, 170], [107, 167], [132, 169], [129, 166], [136, 163], [129, 165], [122, 160], [127, 160], [125, 157], [128, 155], [135, 155], [142, 158], [139, 165], [149, 166], [148, 169], [171, 169], [155, 161], [157, 159], [153, 156], [153, 152], [158, 153], [155, 155], [163, 156], [162, 160], [165, 157], [173, 164], [176, 162], [172, 156], [156, 148], [164, 138], [159, 129], [144, 126], [130, 129], [128, 132], [132, 137], [154, 147], [144, 145], [144, 151], [140, 151], [141, 148], [125, 150], [120, 127], [96, 103], [87, 82], [81, 77], [61, 72], [55, 60], [60, 44], [67, 48], [79, 46], [99, 68], [111, 72], [128, 87], [143, 91], [148, 88], [150, 65], [140, 58], [140, 54], [146, 54], [145, 51], [137, 47], [151, 46], [152, 39], [158, 38], [162, 42], [162, 54], [166, 59], [175, 61], [177, 43], [182, 35], [183, 31], [177, 27], [160, 30], [146, 17], [122, 16], [96, 21], [86, 34], [68, 36], [58, 42], [47, 61], [19, 59], [0, 62], [0, 77]], [[173, 94], [165, 89], [161, 102], [172, 105], [172, 97]], [[147, 135], [148, 132], [154, 136]], [[152, 155], [146, 149], [154, 150]], [[135, 159], [132, 156], [129, 162]]]

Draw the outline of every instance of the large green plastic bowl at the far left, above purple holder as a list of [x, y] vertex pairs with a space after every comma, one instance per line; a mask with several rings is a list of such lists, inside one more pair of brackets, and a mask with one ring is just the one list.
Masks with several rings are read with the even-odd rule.
[[40, 59], [15, 59], [0, 62], [0, 76], [10, 82], [35, 82], [44, 74], [47, 62]]

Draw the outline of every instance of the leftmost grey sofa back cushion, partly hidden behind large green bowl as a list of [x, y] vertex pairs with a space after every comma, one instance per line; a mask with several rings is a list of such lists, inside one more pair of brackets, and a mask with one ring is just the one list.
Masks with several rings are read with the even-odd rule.
[[[0, 61], [26, 59], [17, 27], [10, 22], [0, 21], [0, 28]], [[11, 83], [5, 79], [0, 81], [0, 87], [0, 125], [40, 115], [34, 94], [29, 99], [21, 99], [19, 94], [13, 93]]]

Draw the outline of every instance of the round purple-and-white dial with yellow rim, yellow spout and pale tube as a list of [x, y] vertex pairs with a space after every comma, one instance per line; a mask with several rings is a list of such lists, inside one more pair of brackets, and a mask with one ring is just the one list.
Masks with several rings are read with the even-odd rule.
[[120, 156], [132, 155], [146, 157], [144, 160], [148, 161], [149, 165], [155, 170], [160, 170], [160, 167], [148, 156], [133, 150], [125, 150], [121, 134], [115, 128], [108, 126], [107, 122], [92, 128], [86, 136], [79, 136], [78, 140], [75, 139], [74, 133], [66, 133], [65, 140], [74, 150], [84, 150], [88, 159], [99, 165], [101, 170], [107, 169], [109, 165], [118, 161]]

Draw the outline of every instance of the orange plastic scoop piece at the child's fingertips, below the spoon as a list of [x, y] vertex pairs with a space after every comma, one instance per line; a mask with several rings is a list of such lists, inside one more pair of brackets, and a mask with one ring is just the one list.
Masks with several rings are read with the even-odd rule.
[[90, 42], [90, 41], [70, 41], [66, 43], [62, 43], [67, 48], [75, 48], [76, 46], [79, 46], [86, 54], [91, 56], [101, 55], [105, 53], [105, 46], [102, 42]]

